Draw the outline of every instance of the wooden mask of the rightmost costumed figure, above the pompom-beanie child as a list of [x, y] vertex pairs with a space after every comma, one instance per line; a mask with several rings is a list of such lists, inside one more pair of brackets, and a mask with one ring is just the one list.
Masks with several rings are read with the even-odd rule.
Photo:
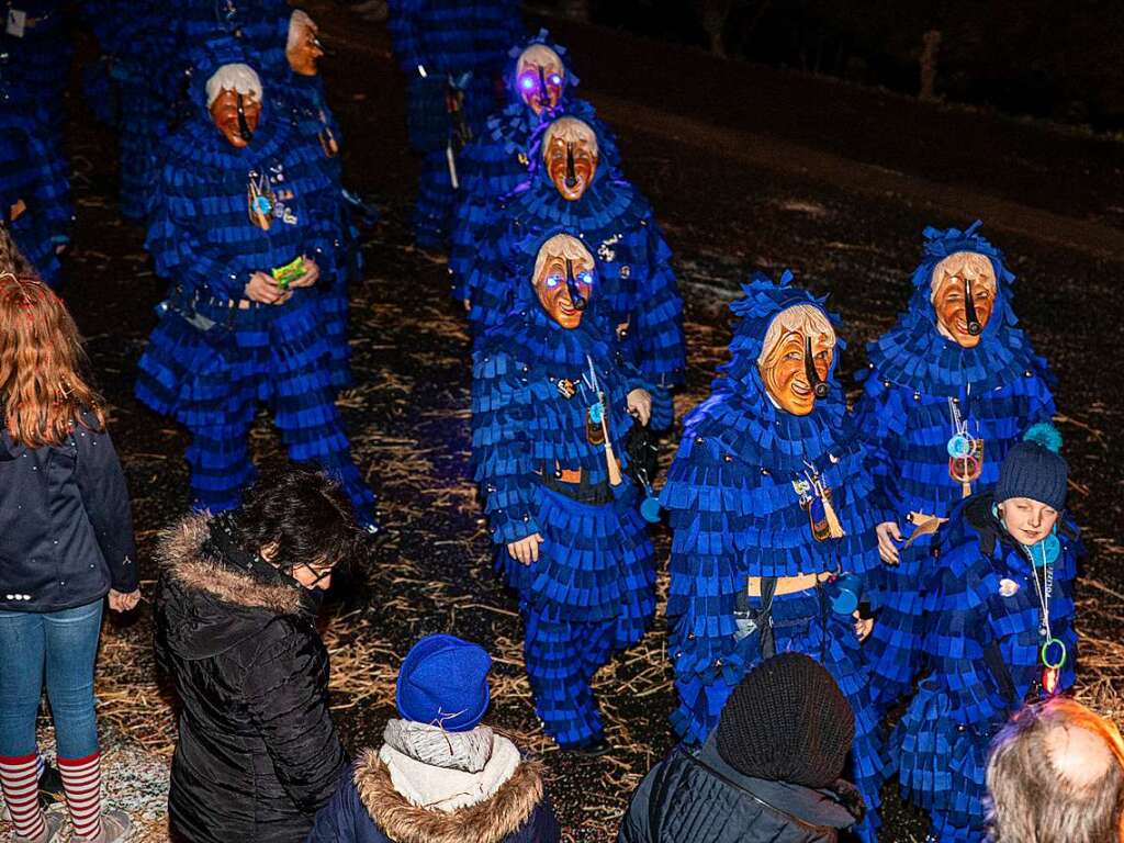
[[986, 255], [957, 252], [933, 268], [931, 300], [937, 329], [964, 348], [979, 345], [995, 308], [995, 269]]

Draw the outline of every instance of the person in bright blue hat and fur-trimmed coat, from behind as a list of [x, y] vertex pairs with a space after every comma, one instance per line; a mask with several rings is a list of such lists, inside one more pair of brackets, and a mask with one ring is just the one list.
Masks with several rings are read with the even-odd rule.
[[398, 672], [398, 713], [327, 807], [307, 843], [558, 843], [542, 765], [480, 720], [491, 659], [427, 635]]

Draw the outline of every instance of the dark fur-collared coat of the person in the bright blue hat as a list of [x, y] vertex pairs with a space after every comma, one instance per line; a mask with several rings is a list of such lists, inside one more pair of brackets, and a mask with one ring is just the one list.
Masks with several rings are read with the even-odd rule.
[[486, 801], [445, 814], [410, 805], [369, 750], [327, 807], [308, 843], [559, 843], [562, 832], [543, 790], [542, 768], [519, 764]]

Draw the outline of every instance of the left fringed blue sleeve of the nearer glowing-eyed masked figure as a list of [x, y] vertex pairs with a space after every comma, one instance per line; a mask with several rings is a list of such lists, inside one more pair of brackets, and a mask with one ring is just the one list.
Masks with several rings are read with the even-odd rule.
[[527, 441], [532, 396], [511, 357], [482, 352], [473, 356], [474, 479], [483, 488], [492, 541], [505, 545], [540, 532], [535, 513], [542, 483]]

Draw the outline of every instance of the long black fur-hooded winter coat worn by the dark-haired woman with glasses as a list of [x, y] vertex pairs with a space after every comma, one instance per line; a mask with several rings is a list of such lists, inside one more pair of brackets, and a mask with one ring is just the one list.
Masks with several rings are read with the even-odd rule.
[[328, 653], [300, 587], [207, 555], [210, 518], [170, 532], [156, 651], [182, 701], [169, 816], [191, 843], [298, 843], [347, 759], [328, 711]]

